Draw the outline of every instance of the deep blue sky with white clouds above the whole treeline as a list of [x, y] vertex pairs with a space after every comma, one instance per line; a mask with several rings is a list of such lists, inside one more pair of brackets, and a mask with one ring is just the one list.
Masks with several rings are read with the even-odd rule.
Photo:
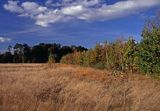
[[0, 51], [8, 45], [82, 45], [132, 36], [141, 40], [160, 0], [0, 0]]

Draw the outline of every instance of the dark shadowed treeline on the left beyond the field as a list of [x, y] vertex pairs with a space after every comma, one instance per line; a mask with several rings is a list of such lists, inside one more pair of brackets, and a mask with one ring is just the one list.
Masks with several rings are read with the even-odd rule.
[[8, 46], [8, 51], [0, 54], [0, 63], [46, 63], [49, 55], [54, 55], [55, 62], [59, 62], [66, 54], [86, 50], [82, 46], [61, 46], [56, 43], [40, 43], [33, 47], [17, 43], [15, 46]]

